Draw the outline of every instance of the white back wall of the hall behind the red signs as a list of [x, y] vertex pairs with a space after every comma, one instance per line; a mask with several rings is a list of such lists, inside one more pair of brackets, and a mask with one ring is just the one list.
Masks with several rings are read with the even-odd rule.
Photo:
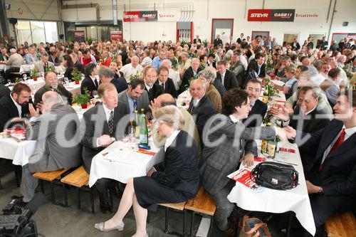
[[[330, 15], [327, 21], [328, 8], [331, 1]], [[239, 37], [240, 33], [251, 36], [252, 31], [270, 31], [270, 35], [276, 37], [278, 43], [283, 41], [283, 33], [299, 33], [299, 41], [308, 38], [310, 33], [322, 33], [328, 36], [328, 31], [333, 14], [335, 15], [329, 41], [333, 33], [356, 32], [356, 4], [355, 0], [268, 0], [264, 1], [264, 9], [296, 9], [296, 11], [317, 12], [318, 20], [310, 19], [303, 22], [251, 22], [247, 21], [248, 9], [263, 9], [263, 0], [117, 0], [117, 18], [122, 19], [122, 13], [126, 11], [180, 11], [184, 7], [192, 5], [194, 14], [192, 17], [194, 35], [199, 34], [201, 39], [211, 39], [211, 19], [234, 19], [233, 38]], [[63, 3], [73, 4], [73, 1]], [[92, 1], [95, 3], [95, 0]], [[112, 19], [112, 1], [96, 1], [99, 4], [100, 20]], [[78, 0], [77, 4], [88, 3]], [[245, 7], [246, 4], [246, 7]], [[70, 12], [71, 11], [71, 12]], [[79, 12], [84, 9], [79, 10]], [[84, 15], [84, 16], [83, 16]], [[73, 10], [62, 10], [63, 21], [95, 21], [92, 14], [76, 14]], [[348, 21], [348, 26], [342, 26], [343, 21]], [[176, 22], [123, 22], [123, 37], [126, 40], [176, 40]]]

